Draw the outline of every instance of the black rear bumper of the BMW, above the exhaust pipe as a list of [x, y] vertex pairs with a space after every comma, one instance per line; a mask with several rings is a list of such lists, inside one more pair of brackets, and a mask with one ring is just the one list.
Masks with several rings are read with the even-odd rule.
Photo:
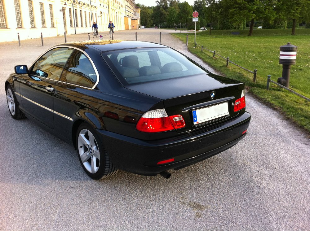
[[[136, 174], [155, 176], [169, 169], [180, 169], [216, 155], [237, 144], [250, 124], [250, 113], [199, 134], [187, 134], [164, 140], [145, 141], [97, 130], [116, 168]], [[159, 161], [175, 161], [157, 165]]]

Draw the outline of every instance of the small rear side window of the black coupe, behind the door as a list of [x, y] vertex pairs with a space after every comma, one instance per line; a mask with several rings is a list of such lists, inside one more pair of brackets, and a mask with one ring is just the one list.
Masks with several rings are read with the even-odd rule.
[[69, 58], [60, 81], [92, 88], [97, 82], [97, 75], [86, 55], [75, 51]]

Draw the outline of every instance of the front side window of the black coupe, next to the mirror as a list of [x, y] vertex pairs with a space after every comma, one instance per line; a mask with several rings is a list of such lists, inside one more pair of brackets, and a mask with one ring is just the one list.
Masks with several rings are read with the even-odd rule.
[[34, 63], [29, 74], [59, 80], [72, 52], [73, 50], [67, 47], [58, 47], [48, 51]]

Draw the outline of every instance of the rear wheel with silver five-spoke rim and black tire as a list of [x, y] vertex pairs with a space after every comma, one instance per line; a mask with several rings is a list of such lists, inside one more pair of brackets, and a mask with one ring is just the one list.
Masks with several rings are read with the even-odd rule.
[[82, 168], [91, 178], [100, 180], [117, 172], [99, 136], [86, 122], [78, 128], [76, 147]]

